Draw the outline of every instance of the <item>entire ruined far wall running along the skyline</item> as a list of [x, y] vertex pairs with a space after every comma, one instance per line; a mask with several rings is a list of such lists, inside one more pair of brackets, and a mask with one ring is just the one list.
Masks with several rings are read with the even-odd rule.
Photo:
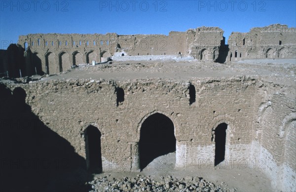
[[[296, 58], [296, 29], [275, 24], [253, 28], [246, 33], [232, 32], [228, 45], [225, 45], [223, 30], [219, 27], [199, 27], [168, 35], [37, 33], [20, 35], [19, 44], [26, 49], [26, 63], [20, 64], [26, 68], [24, 74], [32, 75], [36, 71], [37, 74], [55, 74], [74, 65], [106, 62], [112, 56], [171, 55], [217, 63]], [[9, 65], [14, 65], [7, 58], [1, 63], [0, 72], [6, 72]]]

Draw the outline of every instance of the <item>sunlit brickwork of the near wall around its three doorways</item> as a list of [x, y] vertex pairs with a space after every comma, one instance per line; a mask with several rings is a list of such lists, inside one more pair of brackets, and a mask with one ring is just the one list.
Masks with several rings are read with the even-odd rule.
[[[196, 91], [191, 102], [189, 85]], [[139, 170], [141, 126], [161, 113], [174, 124], [176, 168], [214, 167], [214, 132], [226, 123], [225, 160], [218, 166], [256, 168], [271, 178], [274, 188], [295, 190], [295, 95], [280, 94], [278, 85], [233, 77], [41, 80], [6, 86], [22, 87], [32, 112], [69, 141], [86, 164], [85, 130], [97, 127], [103, 171]], [[124, 100], [118, 101], [118, 88]]]

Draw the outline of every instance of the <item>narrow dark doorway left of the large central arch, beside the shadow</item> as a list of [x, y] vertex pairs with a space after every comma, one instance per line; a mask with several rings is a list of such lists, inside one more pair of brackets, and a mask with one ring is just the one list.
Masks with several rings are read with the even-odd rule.
[[101, 132], [94, 126], [86, 128], [86, 158], [88, 158], [88, 170], [92, 173], [102, 173], [102, 153], [101, 153]]

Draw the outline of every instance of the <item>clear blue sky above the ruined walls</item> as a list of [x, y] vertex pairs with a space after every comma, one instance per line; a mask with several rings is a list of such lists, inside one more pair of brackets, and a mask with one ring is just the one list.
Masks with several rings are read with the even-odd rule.
[[0, 49], [29, 33], [168, 34], [296, 27], [296, 0], [0, 0]]

